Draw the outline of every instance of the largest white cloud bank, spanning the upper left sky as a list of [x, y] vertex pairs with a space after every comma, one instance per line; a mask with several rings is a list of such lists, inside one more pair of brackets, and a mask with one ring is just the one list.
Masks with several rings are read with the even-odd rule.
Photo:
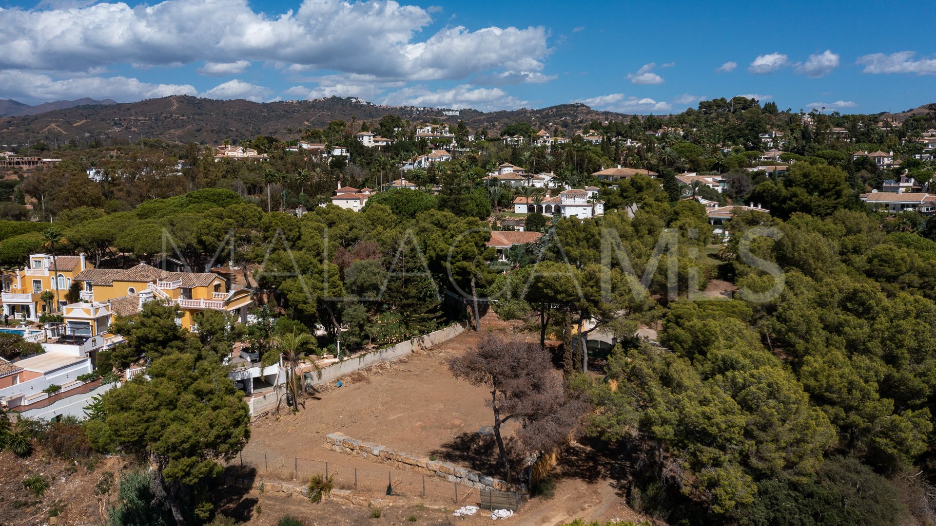
[[247, 0], [0, 8], [0, 68], [52, 71], [136, 64], [269, 61], [402, 80], [540, 71], [544, 27], [445, 27], [421, 37], [430, 13], [395, 1], [303, 0], [283, 14]]

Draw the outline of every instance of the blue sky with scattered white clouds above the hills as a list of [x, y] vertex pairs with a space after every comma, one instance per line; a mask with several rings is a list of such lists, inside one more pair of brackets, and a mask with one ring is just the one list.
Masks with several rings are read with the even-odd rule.
[[924, 2], [0, 0], [0, 98], [359, 96], [479, 110], [667, 113], [936, 102]]

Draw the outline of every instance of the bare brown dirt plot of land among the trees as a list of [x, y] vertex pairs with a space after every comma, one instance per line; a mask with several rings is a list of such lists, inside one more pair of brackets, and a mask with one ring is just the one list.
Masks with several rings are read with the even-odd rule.
[[[484, 321], [485, 331], [517, 330], [493, 315], [485, 316]], [[524, 337], [535, 338], [529, 333]], [[455, 519], [451, 517], [453, 508], [477, 503], [476, 489], [459, 487], [456, 500], [453, 484], [381, 461], [331, 451], [324, 446], [325, 435], [342, 432], [396, 451], [449, 460], [459, 466], [497, 475], [494, 473], [496, 457], [490, 444], [492, 415], [486, 405], [490, 391], [456, 379], [446, 365], [447, 358], [464, 353], [478, 338], [475, 331], [467, 330], [426, 352], [382, 364], [365, 373], [354, 373], [343, 379], [343, 387], [322, 389], [314, 399], [306, 401], [298, 415], [284, 413], [259, 419], [253, 426], [250, 444], [243, 452], [244, 463], [256, 467], [258, 479], [275, 475], [301, 483], [308, 480], [309, 475], [323, 473], [328, 462], [329, 475], [337, 474], [337, 487], [352, 489], [357, 479], [358, 490], [379, 496], [389, 484], [395, 494], [417, 501], [422, 499], [428, 507], [420, 509], [446, 508], [441, 515], [434, 512], [420, 515], [420, 522], [449, 523]], [[508, 428], [507, 434], [510, 431]], [[466, 454], [469, 447], [471, 453]], [[588, 446], [577, 445], [574, 449], [569, 459], [577, 464], [591, 456]], [[600, 460], [595, 457], [589, 461]], [[607, 466], [590, 465], [584, 473], [580, 467], [561, 465], [557, 469], [555, 497], [534, 499], [509, 520], [518, 524], [562, 524], [576, 518], [641, 519], [624, 503], [620, 483]], [[422, 497], [423, 482], [425, 498]], [[326, 507], [303, 501], [293, 499], [290, 504], [295, 507], [285, 507], [294, 515], [308, 519], [307, 523], [356, 523], [360, 515], [357, 510], [339, 516], [323, 514]], [[330, 503], [329, 509], [334, 505], [338, 504]], [[268, 506], [264, 505], [263, 509], [266, 515]], [[393, 515], [405, 517], [402, 511], [400, 514], [394, 511]], [[261, 520], [256, 514], [248, 517], [250, 524], [263, 524], [269, 519], [268, 516]], [[490, 521], [490, 515], [468, 519], [468, 522], [474, 521]]]

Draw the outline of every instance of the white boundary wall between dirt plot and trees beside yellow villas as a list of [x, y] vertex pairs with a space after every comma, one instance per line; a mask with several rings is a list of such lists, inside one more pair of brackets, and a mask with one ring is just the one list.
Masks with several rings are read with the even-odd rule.
[[[428, 349], [432, 345], [451, 340], [452, 338], [461, 334], [465, 329], [467, 329], [467, 327], [468, 326], [464, 323], [456, 323], [446, 327], [445, 329], [438, 329], [430, 332], [429, 334], [423, 334], [422, 336], [417, 336], [416, 338], [406, 340], [405, 342], [397, 343], [396, 345], [391, 345], [389, 347], [384, 347], [382, 349], [377, 349], [367, 353], [360, 353], [351, 358], [332, 363], [331, 365], [326, 365], [318, 371], [312, 371], [312, 385], [321, 386], [322, 384], [328, 384], [329, 382], [337, 380], [342, 376], [346, 376], [360, 369], [370, 367], [376, 363], [392, 361], [397, 358], [402, 358], [417, 350]], [[257, 416], [275, 408], [278, 398], [279, 397], [276, 395], [275, 391], [272, 391], [247, 401], [247, 405], [250, 406], [251, 416]]]

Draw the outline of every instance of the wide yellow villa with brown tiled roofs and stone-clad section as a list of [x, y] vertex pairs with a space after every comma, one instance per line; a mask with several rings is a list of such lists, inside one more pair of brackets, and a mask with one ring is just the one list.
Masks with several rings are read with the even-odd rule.
[[86, 269], [75, 276], [84, 285], [81, 300], [108, 303], [114, 316], [138, 314], [149, 300], [176, 305], [178, 322], [192, 329], [192, 315], [205, 310], [236, 314], [241, 322], [254, 302], [249, 289], [227, 289], [227, 282], [213, 272], [168, 272], [140, 263], [130, 269]]

